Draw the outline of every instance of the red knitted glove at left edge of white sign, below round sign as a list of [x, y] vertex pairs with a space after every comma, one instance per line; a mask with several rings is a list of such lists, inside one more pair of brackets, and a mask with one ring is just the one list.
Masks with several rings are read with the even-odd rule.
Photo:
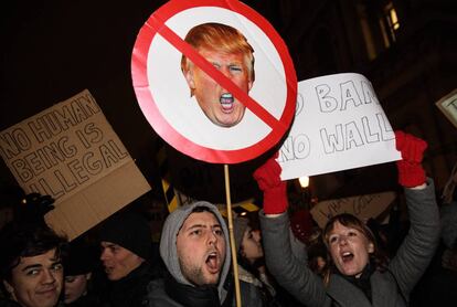
[[278, 214], [286, 212], [288, 202], [286, 181], [280, 180], [281, 168], [276, 162], [275, 156], [269, 158], [265, 165], [254, 172], [254, 179], [257, 181], [258, 188], [264, 192], [264, 212], [265, 214]]

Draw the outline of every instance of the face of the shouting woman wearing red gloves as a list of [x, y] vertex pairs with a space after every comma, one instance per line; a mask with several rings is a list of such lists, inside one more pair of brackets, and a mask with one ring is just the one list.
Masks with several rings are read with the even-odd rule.
[[338, 271], [347, 276], [360, 277], [370, 261], [374, 245], [361, 229], [344, 226], [336, 221], [327, 235], [330, 255]]

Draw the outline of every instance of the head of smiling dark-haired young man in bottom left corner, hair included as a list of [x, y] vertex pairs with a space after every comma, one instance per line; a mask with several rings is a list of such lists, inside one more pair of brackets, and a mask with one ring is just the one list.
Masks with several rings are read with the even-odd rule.
[[66, 239], [46, 225], [7, 224], [0, 234], [0, 278], [9, 299], [0, 306], [57, 306], [65, 245]]

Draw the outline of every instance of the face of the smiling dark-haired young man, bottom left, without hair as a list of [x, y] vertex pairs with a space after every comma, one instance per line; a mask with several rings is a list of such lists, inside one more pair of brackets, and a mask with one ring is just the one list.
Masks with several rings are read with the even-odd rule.
[[21, 257], [3, 285], [11, 298], [24, 307], [57, 305], [63, 286], [63, 266], [55, 248], [44, 254]]

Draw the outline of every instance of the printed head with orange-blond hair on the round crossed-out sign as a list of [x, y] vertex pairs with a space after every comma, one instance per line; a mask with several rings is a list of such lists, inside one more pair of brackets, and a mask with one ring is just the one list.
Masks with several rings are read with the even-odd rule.
[[[188, 33], [185, 41], [240, 89], [249, 92], [254, 83], [254, 51], [236, 29], [219, 23], [200, 24]], [[213, 124], [233, 127], [243, 119], [246, 107], [185, 56], [181, 70], [191, 96], [195, 95]]]

